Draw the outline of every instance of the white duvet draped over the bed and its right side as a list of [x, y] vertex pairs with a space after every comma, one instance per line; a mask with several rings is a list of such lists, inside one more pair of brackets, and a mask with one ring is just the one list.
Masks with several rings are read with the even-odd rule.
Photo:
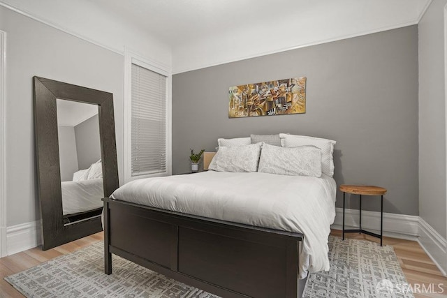
[[335, 180], [261, 172], [200, 172], [138, 179], [111, 198], [186, 214], [302, 232], [300, 276], [328, 271]]

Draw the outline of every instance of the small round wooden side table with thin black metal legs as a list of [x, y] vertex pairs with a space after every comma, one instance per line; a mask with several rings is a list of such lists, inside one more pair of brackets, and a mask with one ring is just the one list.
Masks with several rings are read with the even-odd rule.
[[[386, 188], [382, 188], [379, 186], [360, 186], [360, 185], [346, 185], [342, 184], [340, 186], [340, 191], [343, 192], [343, 240], [344, 233], [354, 233], [359, 232], [363, 234], [368, 234], [372, 237], [380, 238], [380, 246], [382, 246], [383, 240], [383, 195], [386, 193]], [[351, 193], [353, 195], [360, 195], [360, 223], [359, 228], [355, 230], [344, 230], [344, 197], [346, 193]], [[380, 195], [381, 196], [381, 204], [380, 204], [380, 234], [375, 234], [373, 232], [365, 231], [362, 229], [362, 195]]]

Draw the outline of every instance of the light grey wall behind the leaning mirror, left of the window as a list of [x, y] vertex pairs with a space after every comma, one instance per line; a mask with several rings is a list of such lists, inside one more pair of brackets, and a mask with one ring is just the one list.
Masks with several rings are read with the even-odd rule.
[[124, 57], [0, 7], [6, 54], [7, 225], [38, 220], [32, 77], [38, 75], [114, 95], [122, 179]]

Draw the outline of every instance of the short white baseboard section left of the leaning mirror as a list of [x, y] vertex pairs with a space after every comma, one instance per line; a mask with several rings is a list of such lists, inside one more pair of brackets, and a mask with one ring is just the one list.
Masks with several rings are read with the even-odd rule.
[[8, 255], [41, 245], [41, 221], [21, 223], [6, 228]]

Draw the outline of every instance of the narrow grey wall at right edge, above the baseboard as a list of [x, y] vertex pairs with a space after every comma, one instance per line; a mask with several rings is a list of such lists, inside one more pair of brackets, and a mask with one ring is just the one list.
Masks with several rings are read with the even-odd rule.
[[443, 237], [447, 237], [446, 3], [446, 0], [432, 1], [419, 23], [419, 211], [420, 217]]

